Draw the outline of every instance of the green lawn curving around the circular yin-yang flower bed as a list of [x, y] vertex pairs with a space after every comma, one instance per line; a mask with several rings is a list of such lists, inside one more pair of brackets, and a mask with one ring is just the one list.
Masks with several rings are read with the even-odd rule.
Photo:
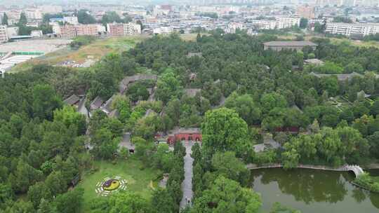
[[[152, 193], [150, 182], [157, 179], [159, 170], [146, 168], [141, 170], [142, 163], [140, 160], [133, 159], [133, 156], [128, 160], [118, 160], [116, 164], [109, 161], [95, 161], [95, 167], [98, 171], [90, 174], [89, 172], [82, 176], [81, 182], [77, 187], [84, 188], [84, 207], [82, 212], [89, 212], [90, 202], [93, 198], [97, 198], [95, 192], [96, 184], [102, 181], [105, 177], [120, 176], [128, 181], [127, 190], [140, 193], [143, 197], [149, 199]], [[154, 182], [154, 186], [156, 186]]]

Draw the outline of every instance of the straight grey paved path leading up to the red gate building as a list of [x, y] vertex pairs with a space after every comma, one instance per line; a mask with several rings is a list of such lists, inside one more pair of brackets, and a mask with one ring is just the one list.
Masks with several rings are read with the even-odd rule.
[[186, 152], [186, 155], [184, 157], [185, 179], [182, 182], [183, 197], [182, 197], [182, 200], [180, 201], [180, 209], [185, 208], [185, 206], [188, 203], [187, 200], [190, 200], [192, 202], [192, 197], [194, 195], [194, 192], [192, 191], [192, 176], [193, 176], [192, 163], [194, 162], [194, 159], [191, 158], [191, 152], [192, 152], [191, 149], [192, 149], [193, 144], [194, 144], [193, 142], [183, 142], [183, 145], [185, 146], [185, 152]]

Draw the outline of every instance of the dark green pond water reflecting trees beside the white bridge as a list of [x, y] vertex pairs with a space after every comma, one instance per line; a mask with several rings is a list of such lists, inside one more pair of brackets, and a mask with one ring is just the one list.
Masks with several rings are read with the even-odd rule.
[[[378, 176], [379, 170], [368, 170]], [[254, 191], [262, 196], [262, 211], [270, 212], [274, 202], [302, 213], [378, 213], [379, 193], [352, 186], [352, 172], [321, 170], [251, 170]]]

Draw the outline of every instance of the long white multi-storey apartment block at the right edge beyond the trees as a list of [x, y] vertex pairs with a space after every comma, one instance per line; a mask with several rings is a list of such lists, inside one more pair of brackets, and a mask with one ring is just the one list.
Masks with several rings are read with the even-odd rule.
[[352, 34], [361, 34], [367, 36], [369, 34], [379, 33], [379, 23], [340, 23], [329, 22], [326, 23], [325, 32], [330, 34], [341, 34], [350, 36]]

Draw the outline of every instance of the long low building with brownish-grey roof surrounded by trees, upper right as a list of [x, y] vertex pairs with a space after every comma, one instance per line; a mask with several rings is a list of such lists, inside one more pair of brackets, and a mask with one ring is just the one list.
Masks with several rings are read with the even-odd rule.
[[270, 41], [263, 43], [265, 50], [302, 50], [306, 46], [316, 49], [317, 44], [310, 41]]

